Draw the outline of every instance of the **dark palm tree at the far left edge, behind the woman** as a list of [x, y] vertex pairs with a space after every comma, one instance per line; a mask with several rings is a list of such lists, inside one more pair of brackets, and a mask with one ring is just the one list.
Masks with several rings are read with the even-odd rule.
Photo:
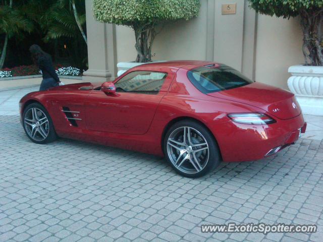
[[21, 31], [31, 32], [33, 23], [25, 18], [19, 8], [13, 8], [13, 0], [2, 1], [0, 7], [0, 34], [5, 34], [5, 42], [0, 57], [0, 69], [3, 68], [7, 53], [8, 41], [10, 38], [21, 33]]

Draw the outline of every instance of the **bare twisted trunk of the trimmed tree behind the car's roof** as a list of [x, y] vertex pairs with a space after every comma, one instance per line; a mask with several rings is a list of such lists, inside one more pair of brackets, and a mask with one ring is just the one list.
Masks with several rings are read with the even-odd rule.
[[154, 24], [149, 24], [146, 26], [133, 26], [133, 29], [135, 31], [136, 38], [136, 62], [151, 62], [151, 46], [156, 36]]

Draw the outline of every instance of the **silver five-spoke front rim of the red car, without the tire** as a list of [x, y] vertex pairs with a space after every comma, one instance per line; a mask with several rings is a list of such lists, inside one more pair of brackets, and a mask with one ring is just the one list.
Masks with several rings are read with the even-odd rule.
[[39, 108], [27, 110], [24, 118], [25, 129], [33, 140], [43, 141], [49, 133], [49, 123], [45, 113]]

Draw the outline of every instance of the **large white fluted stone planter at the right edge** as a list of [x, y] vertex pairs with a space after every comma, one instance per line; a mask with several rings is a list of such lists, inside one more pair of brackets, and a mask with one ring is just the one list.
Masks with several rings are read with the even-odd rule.
[[323, 67], [291, 66], [288, 87], [303, 114], [323, 115]]

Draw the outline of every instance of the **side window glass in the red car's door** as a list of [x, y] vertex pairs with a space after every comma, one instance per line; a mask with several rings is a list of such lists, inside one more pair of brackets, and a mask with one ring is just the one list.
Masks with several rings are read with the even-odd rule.
[[167, 73], [135, 71], [115, 83], [117, 92], [157, 94], [163, 86]]

